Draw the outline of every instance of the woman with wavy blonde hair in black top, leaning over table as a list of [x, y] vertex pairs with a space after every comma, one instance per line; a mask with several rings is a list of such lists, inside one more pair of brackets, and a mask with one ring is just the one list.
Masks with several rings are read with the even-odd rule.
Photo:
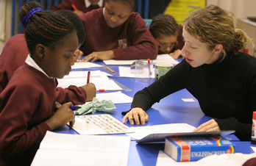
[[230, 13], [213, 5], [192, 12], [183, 26], [185, 59], [135, 94], [123, 123], [129, 119], [132, 125], [144, 125], [149, 119], [145, 111], [154, 103], [189, 88], [202, 112], [213, 118], [195, 131], [235, 130], [240, 140], [251, 140], [256, 58], [239, 50], [252, 40], [241, 29], [235, 29]]

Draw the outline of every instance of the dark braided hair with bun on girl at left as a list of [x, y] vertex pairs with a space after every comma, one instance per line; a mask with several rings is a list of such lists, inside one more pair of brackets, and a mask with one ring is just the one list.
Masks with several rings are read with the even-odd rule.
[[[36, 7], [40, 7], [40, 4], [34, 1], [24, 4], [20, 11], [21, 21], [30, 10]], [[39, 43], [54, 48], [57, 43], [62, 42], [63, 37], [76, 30], [64, 16], [50, 11], [35, 12], [24, 26], [26, 26], [26, 43], [31, 54]]]

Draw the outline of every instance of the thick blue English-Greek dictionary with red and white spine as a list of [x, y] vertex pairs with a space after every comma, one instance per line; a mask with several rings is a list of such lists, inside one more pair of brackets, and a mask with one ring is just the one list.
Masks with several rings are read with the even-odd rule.
[[166, 137], [164, 151], [177, 162], [190, 162], [213, 154], [234, 154], [235, 144], [217, 135]]

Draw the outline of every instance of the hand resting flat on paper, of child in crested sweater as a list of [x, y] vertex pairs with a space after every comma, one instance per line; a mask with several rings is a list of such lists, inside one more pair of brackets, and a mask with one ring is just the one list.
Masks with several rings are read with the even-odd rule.
[[115, 55], [114, 55], [114, 51], [109, 50], [109, 51], [96, 51], [93, 52], [91, 54], [88, 54], [87, 56], [85, 56], [84, 59], [82, 59], [82, 62], [94, 62], [97, 59], [100, 60], [107, 60], [107, 59], [114, 59]]

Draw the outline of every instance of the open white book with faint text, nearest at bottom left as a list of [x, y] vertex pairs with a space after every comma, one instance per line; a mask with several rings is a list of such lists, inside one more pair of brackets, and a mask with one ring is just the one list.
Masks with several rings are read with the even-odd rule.
[[130, 137], [57, 134], [51, 131], [40, 143], [32, 166], [127, 165]]

